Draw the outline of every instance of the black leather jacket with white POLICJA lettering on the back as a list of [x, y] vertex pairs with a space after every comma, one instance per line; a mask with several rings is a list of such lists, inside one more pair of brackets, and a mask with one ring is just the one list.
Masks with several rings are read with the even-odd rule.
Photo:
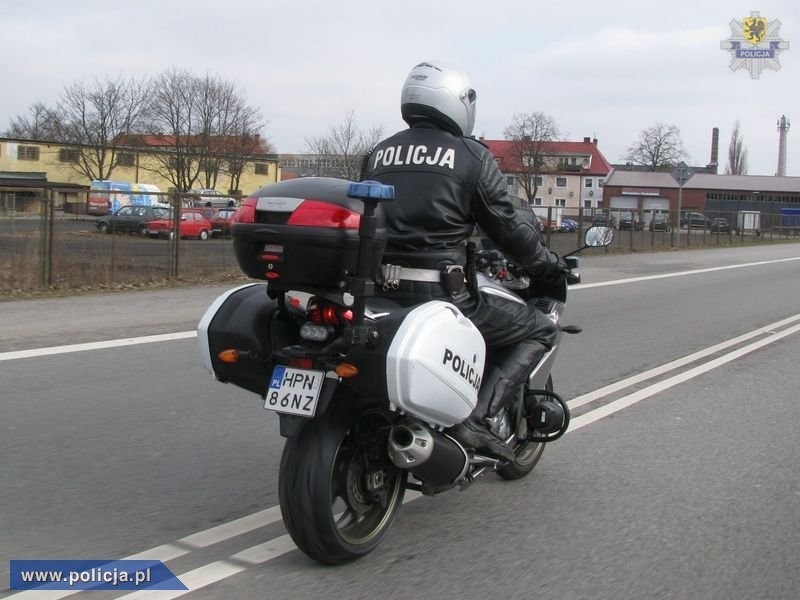
[[[506, 256], [532, 276], [559, 271], [533, 219], [520, 219], [489, 149], [432, 124], [419, 123], [380, 142], [365, 160], [364, 178], [391, 184], [383, 203], [387, 253], [412, 253], [418, 264], [440, 253], [463, 264], [464, 242], [477, 224]], [[461, 257], [460, 259], [458, 257]]]

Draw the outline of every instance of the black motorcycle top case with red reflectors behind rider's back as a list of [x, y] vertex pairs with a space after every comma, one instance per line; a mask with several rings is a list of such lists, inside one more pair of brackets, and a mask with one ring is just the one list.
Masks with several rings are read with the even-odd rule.
[[[347, 196], [350, 181], [303, 177], [260, 188], [231, 227], [239, 266], [276, 290], [339, 290], [356, 272], [364, 205]], [[382, 210], [370, 253], [373, 273], [386, 247]]]

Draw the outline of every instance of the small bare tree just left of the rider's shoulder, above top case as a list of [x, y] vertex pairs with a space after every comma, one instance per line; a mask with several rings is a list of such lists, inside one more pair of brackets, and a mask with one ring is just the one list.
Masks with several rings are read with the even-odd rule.
[[306, 139], [306, 153], [315, 157], [315, 175], [355, 181], [361, 176], [364, 156], [382, 137], [381, 127], [362, 131], [355, 111], [350, 110], [341, 123], [331, 126], [327, 136]]

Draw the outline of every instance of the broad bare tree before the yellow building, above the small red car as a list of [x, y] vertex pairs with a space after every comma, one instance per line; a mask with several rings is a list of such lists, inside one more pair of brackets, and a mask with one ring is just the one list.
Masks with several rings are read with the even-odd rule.
[[259, 111], [218, 76], [162, 73], [153, 84], [148, 117], [148, 132], [157, 136], [151, 142], [163, 146], [154, 152], [156, 171], [181, 191], [197, 183], [215, 188], [225, 173], [238, 189], [245, 155], [262, 148]]

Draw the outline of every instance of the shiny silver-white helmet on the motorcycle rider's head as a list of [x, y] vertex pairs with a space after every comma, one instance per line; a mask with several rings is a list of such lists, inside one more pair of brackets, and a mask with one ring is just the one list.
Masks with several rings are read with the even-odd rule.
[[400, 94], [403, 120], [435, 121], [456, 135], [470, 135], [475, 126], [475, 90], [460, 71], [433, 62], [411, 69]]

